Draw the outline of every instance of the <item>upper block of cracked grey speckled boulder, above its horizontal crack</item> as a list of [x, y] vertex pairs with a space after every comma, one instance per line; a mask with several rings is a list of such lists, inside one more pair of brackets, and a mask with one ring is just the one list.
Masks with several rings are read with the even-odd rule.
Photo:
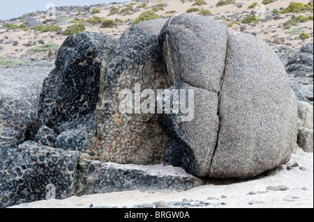
[[225, 66], [227, 38], [225, 26], [214, 19], [190, 13], [168, 19], [158, 42], [172, 84], [184, 81], [218, 93]]

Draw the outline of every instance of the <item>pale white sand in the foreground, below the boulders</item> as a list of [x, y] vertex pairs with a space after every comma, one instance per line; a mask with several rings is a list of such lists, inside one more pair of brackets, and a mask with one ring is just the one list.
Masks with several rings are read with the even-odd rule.
[[[288, 164], [297, 161], [298, 167], [287, 170], [287, 164], [276, 175], [269, 175], [257, 180], [237, 182], [228, 185], [209, 184], [196, 187], [189, 191], [172, 192], [142, 192], [122, 191], [105, 194], [76, 197], [65, 200], [41, 200], [29, 204], [21, 204], [12, 208], [88, 208], [94, 206], [134, 207], [144, 203], [154, 203], [159, 200], [166, 202], [199, 200], [208, 203], [225, 203], [226, 205], [208, 205], [208, 208], [313, 208], [313, 153], [298, 149], [292, 154]], [[301, 171], [300, 166], [306, 168]], [[267, 187], [284, 185], [285, 191], [269, 191]], [[248, 195], [254, 191], [255, 195]], [[261, 192], [261, 193], [260, 193]], [[222, 196], [225, 196], [222, 198]], [[209, 197], [218, 200], [207, 200]], [[249, 204], [252, 203], [253, 204]]]

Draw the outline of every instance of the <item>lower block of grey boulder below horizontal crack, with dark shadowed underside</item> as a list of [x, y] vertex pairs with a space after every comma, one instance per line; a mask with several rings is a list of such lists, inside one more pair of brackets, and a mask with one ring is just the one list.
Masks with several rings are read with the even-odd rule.
[[[171, 100], [169, 107], [163, 104], [165, 111], [158, 116], [170, 135], [164, 161], [197, 177], [208, 177], [219, 129], [218, 95], [186, 83], [172, 86], [165, 97], [170, 99], [172, 92], [179, 93], [179, 100]], [[178, 113], [170, 109], [175, 103], [180, 106]]]

